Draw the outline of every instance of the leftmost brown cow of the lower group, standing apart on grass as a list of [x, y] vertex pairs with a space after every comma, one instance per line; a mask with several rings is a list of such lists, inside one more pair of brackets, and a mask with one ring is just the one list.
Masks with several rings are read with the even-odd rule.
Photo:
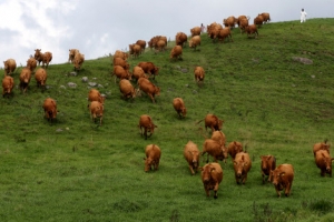
[[158, 145], [156, 144], [149, 144], [146, 145], [145, 148], [145, 172], [148, 172], [154, 168], [154, 170], [159, 169], [159, 162], [160, 162], [160, 157], [161, 157], [161, 150]]

